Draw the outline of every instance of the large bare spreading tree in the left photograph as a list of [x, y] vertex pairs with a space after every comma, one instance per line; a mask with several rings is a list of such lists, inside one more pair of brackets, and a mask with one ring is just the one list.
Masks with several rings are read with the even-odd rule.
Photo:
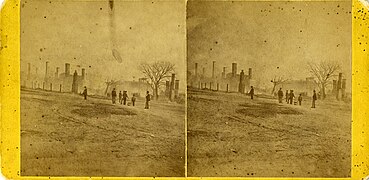
[[140, 71], [149, 79], [153, 94], [156, 99], [159, 98], [159, 88], [165, 79], [174, 73], [174, 64], [166, 61], [157, 61], [151, 64], [142, 63], [139, 67]]

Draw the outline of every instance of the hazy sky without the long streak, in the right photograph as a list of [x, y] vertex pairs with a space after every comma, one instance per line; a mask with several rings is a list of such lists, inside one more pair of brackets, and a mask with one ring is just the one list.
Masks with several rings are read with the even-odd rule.
[[[193, 2], [187, 5], [188, 68], [238, 63], [266, 85], [310, 76], [307, 62], [337, 61], [351, 90], [351, 2]], [[277, 68], [279, 67], [279, 68]], [[269, 83], [269, 84], [268, 84]]]

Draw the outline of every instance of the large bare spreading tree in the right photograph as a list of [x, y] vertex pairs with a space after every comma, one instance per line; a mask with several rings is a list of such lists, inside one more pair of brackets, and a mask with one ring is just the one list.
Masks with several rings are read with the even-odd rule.
[[315, 83], [321, 90], [324, 99], [326, 97], [325, 89], [330, 79], [333, 77], [333, 74], [341, 69], [341, 66], [337, 62], [321, 61], [320, 63], [308, 63], [308, 68], [310, 73], [316, 78]]

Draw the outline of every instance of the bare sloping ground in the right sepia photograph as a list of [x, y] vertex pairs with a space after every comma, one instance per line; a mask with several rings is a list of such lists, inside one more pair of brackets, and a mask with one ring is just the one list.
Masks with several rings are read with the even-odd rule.
[[188, 90], [188, 176], [350, 177], [351, 105]]

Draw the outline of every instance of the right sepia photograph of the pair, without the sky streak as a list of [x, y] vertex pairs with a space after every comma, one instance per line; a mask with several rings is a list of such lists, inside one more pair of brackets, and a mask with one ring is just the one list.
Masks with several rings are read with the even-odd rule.
[[188, 1], [186, 28], [188, 176], [351, 176], [351, 1]]

